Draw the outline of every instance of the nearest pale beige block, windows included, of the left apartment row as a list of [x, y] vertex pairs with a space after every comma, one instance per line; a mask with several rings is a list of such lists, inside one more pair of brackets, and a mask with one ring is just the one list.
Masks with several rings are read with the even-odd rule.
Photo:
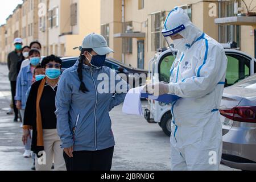
[[[85, 35], [100, 34], [100, 0], [42, 0], [47, 14], [39, 16], [39, 41], [43, 55], [77, 56], [73, 47]], [[39, 5], [40, 6], [40, 5]]]

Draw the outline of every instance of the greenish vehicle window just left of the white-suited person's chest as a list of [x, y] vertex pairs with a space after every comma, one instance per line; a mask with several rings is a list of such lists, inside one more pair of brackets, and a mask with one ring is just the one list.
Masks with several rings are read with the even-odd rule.
[[159, 81], [169, 82], [170, 81], [170, 70], [174, 63], [175, 57], [172, 55], [166, 55], [160, 60], [159, 67]]

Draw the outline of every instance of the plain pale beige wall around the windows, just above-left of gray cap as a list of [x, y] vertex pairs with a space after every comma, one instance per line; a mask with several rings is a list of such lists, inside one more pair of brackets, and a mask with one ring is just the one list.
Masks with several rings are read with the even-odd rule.
[[[44, 1], [46, 3], [46, 0]], [[70, 25], [71, 3], [77, 3], [76, 26]], [[48, 49], [49, 54], [59, 56], [79, 55], [73, 47], [80, 46], [84, 36], [91, 32], [100, 34], [100, 0], [51, 0], [48, 9], [53, 7], [59, 7], [59, 26], [48, 27], [46, 32], [39, 31], [43, 54], [46, 55]], [[67, 35], [71, 32], [71, 35]]]

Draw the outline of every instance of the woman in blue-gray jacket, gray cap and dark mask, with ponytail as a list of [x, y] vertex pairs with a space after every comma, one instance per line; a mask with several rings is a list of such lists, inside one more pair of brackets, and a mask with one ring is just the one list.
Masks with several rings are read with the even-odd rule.
[[113, 52], [103, 36], [85, 36], [79, 49], [80, 59], [63, 72], [56, 94], [61, 148], [69, 171], [110, 171], [115, 142], [109, 111], [123, 102], [129, 85], [103, 66]]

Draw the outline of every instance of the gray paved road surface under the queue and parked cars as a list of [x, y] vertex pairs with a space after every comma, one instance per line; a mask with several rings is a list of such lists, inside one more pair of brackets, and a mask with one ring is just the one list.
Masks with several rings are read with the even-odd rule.
[[[31, 159], [22, 158], [22, 129], [6, 115], [11, 93], [6, 65], [0, 65], [0, 170], [30, 170]], [[146, 106], [147, 102], [143, 102]], [[170, 142], [157, 124], [143, 117], [122, 114], [122, 106], [110, 112], [116, 146], [113, 170], [170, 170]], [[221, 170], [233, 170], [221, 166]]]

